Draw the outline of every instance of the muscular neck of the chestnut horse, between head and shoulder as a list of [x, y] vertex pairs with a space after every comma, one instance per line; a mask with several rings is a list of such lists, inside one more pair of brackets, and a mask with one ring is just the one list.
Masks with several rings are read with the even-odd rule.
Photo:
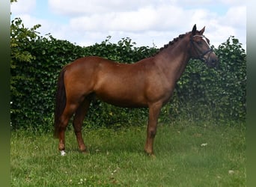
[[168, 79], [174, 78], [175, 81], [180, 79], [190, 59], [188, 47], [189, 39], [187, 37], [179, 38], [155, 56], [157, 65]]

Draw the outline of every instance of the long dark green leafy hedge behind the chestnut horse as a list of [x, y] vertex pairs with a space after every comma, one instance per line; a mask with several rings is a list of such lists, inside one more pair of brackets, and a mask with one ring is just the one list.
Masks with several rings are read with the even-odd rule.
[[[111, 43], [111, 37], [81, 47], [51, 35], [40, 37], [38, 27], [24, 28], [21, 19], [14, 19], [10, 25], [10, 112], [14, 128], [52, 129], [58, 73], [76, 58], [98, 55], [133, 63], [158, 51], [156, 47], [136, 47], [129, 38]], [[214, 51], [219, 55], [219, 68], [210, 69], [201, 61], [190, 61], [171, 102], [162, 108], [160, 121], [179, 117], [245, 120], [246, 52], [235, 37], [229, 37]], [[85, 123], [92, 126], [144, 123], [147, 109], [117, 108], [96, 101], [91, 104], [87, 119]]]

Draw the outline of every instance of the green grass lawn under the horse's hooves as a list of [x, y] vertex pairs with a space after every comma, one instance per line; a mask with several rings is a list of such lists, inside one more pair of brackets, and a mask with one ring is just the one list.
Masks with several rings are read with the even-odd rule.
[[66, 156], [52, 134], [12, 132], [11, 186], [246, 186], [244, 124], [159, 125], [156, 158], [143, 152], [145, 129], [84, 129], [88, 154], [69, 130]]

